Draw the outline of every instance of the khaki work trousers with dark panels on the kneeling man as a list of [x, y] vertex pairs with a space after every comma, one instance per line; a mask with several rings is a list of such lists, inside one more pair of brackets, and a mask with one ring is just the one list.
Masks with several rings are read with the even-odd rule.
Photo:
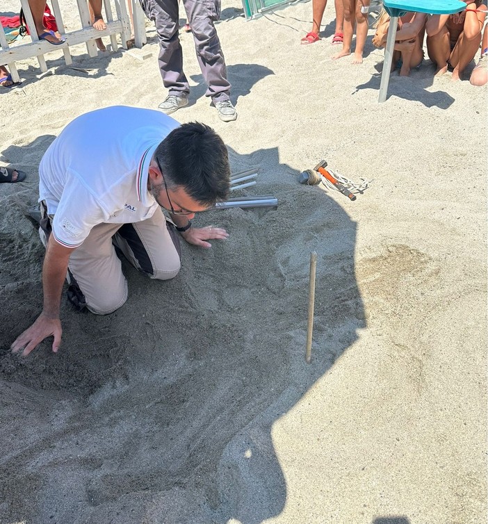
[[[42, 237], [48, 231], [42, 204], [44, 227], [41, 221], [40, 235], [44, 241]], [[52, 218], [49, 215], [50, 222]], [[98, 315], [112, 313], [127, 300], [127, 280], [114, 245], [135, 268], [153, 279], [172, 279], [181, 267], [178, 234], [161, 208], [143, 222], [98, 224], [83, 244], [73, 250], [68, 265], [85, 296], [86, 306]]]

